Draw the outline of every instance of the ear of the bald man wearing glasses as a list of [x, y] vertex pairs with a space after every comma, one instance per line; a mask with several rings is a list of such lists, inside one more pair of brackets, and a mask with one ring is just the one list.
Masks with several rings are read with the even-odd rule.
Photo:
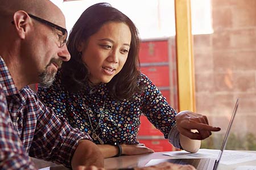
[[16, 11], [13, 15], [13, 20], [20, 39], [25, 39], [27, 31], [31, 27], [31, 18], [25, 11]]

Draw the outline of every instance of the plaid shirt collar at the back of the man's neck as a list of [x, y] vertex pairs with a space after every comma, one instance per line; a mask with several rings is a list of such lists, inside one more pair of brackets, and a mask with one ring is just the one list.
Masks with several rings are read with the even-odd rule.
[[13, 78], [3, 61], [3, 58], [0, 56], [0, 85], [2, 86], [3, 91], [6, 96], [18, 94], [18, 89], [14, 84]]

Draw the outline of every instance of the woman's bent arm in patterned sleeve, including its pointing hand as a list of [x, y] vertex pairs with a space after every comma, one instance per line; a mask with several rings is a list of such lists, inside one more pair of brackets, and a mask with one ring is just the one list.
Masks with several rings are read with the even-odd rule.
[[143, 75], [142, 79], [144, 81], [141, 83], [146, 81], [148, 84], [144, 92], [146, 95], [143, 100], [143, 114], [175, 147], [196, 152], [200, 148], [200, 140], [208, 138], [212, 134], [211, 131], [220, 130], [220, 128], [209, 126], [207, 117], [201, 114], [190, 111], [176, 114], [151, 80]]

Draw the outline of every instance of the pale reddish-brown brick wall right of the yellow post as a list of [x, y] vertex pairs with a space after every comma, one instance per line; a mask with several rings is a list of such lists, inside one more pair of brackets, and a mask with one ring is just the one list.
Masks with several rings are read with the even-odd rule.
[[212, 0], [212, 18], [193, 38], [197, 112], [225, 129], [239, 97], [232, 131], [256, 135], [256, 0]]

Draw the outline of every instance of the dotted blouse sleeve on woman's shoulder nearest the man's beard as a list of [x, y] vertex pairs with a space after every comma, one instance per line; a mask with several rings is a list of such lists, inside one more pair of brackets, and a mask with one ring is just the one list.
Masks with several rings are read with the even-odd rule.
[[52, 86], [38, 88], [38, 97], [47, 107], [51, 108], [57, 116], [67, 117], [67, 93], [64, 92], [60, 82], [60, 74], [57, 73]]

